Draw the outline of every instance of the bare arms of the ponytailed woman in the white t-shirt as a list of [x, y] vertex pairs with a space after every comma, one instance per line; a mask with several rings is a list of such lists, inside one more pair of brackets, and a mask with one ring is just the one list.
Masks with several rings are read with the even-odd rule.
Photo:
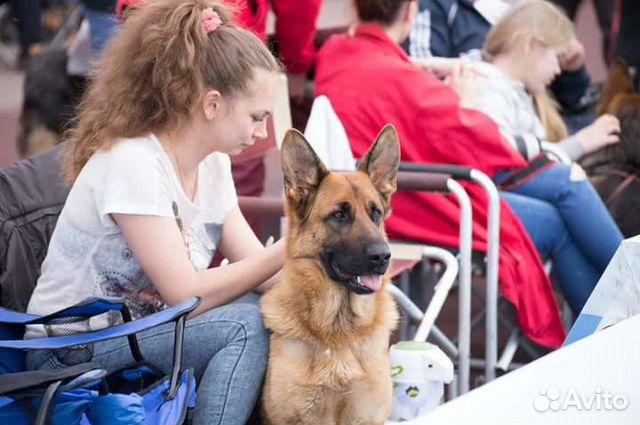
[[282, 267], [284, 244], [262, 247], [237, 208], [225, 219], [221, 237], [221, 249], [233, 263], [205, 270], [193, 268], [174, 219], [129, 214], [113, 217], [167, 304], [193, 296], [202, 298], [194, 315], [255, 289]]

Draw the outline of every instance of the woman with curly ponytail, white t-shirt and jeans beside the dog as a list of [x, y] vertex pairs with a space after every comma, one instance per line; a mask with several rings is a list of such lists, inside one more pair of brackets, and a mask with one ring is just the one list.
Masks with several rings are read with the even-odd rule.
[[[64, 168], [73, 187], [29, 303], [29, 312], [46, 314], [113, 295], [144, 316], [201, 297], [184, 346], [199, 383], [196, 424], [244, 423], [266, 368], [257, 305], [229, 303], [276, 274], [284, 247], [262, 247], [249, 229], [229, 155], [266, 137], [279, 71], [218, 2], [154, 0], [131, 13], [69, 133]], [[231, 264], [208, 269], [218, 249]], [[47, 333], [55, 329], [32, 327], [26, 337]], [[143, 354], [170, 370], [172, 327], [139, 339]], [[73, 354], [109, 370], [131, 360], [126, 340], [84, 350]], [[34, 352], [27, 362], [43, 369], [66, 360]]]

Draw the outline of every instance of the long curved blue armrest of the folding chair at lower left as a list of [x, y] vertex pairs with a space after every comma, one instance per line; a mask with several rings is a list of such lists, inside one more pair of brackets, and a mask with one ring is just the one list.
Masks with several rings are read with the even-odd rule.
[[191, 313], [199, 304], [200, 298], [194, 297], [174, 307], [150, 314], [149, 316], [142, 317], [132, 322], [122, 323], [97, 331], [77, 333], [73, 335], [0, 341], [0, 348], [12, 348], [18, 350], [56, 350], [59, 348], [72, 347], [74, 345], [92, 344], [94, 342], [134, 335], [164, 323], [174, 322], [180, 317]]

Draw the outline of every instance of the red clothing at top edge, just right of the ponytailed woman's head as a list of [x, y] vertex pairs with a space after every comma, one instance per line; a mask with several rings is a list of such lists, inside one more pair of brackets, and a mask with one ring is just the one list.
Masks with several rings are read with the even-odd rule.
[[225, 0], [238, 8], [238, 23], [266, 39], [269, 3], [276, 15], [282, 62], [291, 74], [309, 71], [315, 57], [314, 38], [321, 0]]

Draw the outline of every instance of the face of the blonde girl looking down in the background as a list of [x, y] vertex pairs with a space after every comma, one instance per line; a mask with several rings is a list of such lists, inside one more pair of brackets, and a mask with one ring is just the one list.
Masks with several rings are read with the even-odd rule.
[[529, 48], [528, 60], [522, 61], [524, 84], [530, 92], [536, 93], [548, 87], [560, 74], [561, 49], [548, 47], [537, 40], [532, 40]]

